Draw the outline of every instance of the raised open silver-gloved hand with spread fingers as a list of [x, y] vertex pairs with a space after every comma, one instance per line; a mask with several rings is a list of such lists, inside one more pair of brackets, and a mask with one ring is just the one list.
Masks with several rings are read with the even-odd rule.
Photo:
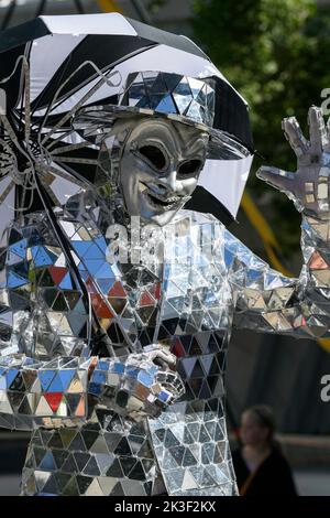
[[283, 191], [307, 216], [329, 220], [330, 217], [330, 118], [324, 126], [321, 108], [308, 112], [309, 140], [302, 136], [295, 117], [283, 120], [284, 133], [297, 155], [296, 173], [262, 166], [256, 175]]

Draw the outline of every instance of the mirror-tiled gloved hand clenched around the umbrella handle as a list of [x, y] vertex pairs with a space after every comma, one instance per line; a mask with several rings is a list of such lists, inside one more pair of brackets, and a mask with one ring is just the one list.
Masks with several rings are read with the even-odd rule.
[[99, 404], [135, 421], [157, 417], [185, 393], [175, 365], [176, 357], [160, 344], [123, 361], [102, 358], [95, 363], [88, 391]]

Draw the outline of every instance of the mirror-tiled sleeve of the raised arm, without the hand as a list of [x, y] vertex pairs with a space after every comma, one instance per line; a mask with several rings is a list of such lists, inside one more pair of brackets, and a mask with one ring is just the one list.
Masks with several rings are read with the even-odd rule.
[[297, 279], [273, 270], [226, 233], [235, 327], [297, 338], [330, 336], [329, 223], [304, 217], [301, 228], [304, 266]]

